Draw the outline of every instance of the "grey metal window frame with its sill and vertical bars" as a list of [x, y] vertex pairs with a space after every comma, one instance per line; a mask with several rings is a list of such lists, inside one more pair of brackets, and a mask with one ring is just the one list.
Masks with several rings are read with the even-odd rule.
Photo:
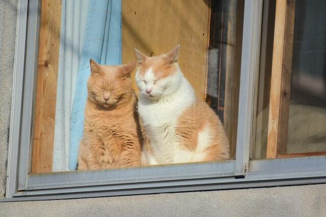
[[253, 114], [256, 108], [255, 86], [259, 70], [262, 6], [263, 0], [246, 0], [244, 3], [235, 160], [29, 174], [40, 1], [18, 1], [6, 201], [325, 183], [326, 156], [250, 160], [255, 120]]

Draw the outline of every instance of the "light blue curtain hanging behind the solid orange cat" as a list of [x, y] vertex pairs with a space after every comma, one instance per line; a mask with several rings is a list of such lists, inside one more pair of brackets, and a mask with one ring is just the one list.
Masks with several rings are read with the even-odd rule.
[[122, 62], [121, 50], [121, 1], [90, 0], [71, 111], [70, 170], [76, 169], [79, 142], [83, 136], [89, 60], [93, 58], [100, 64], [119, 65]]

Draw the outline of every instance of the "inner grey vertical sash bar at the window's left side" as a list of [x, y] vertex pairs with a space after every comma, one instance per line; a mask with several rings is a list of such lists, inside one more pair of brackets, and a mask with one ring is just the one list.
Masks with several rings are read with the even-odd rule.
[[31, 167], [32, 132], [34, 115], [35, 82], [38, 65], [38, 40], [40, 27], [40, 1], [29, 3], [26, 35], [23, 106], [21, 117], [18, 191], [26, 189], [26, 177]]

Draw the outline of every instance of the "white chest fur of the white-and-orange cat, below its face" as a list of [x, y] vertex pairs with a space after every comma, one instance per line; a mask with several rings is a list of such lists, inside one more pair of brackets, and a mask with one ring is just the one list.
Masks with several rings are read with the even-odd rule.
[[194, 89], [185, 78], [181, 79], [180, 88], [172, 95], [157, 101], [140, 97], [139, 115], [146, 129], [146, 137], [151, 141], [151, 158], [158, 164], [180, 163], [175, 161], [176, 154], [180, 152], [175, 129], [179, 116], [195, 101]]

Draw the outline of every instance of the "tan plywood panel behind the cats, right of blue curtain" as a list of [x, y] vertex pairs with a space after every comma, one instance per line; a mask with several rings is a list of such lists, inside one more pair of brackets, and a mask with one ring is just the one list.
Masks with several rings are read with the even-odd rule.
[[158, 55], [180, 44], [180, 69], [197, 96], [204, 100], [210, 18], [208, 2], [122, 0], [123, 63], [135, 59], [133, 48], [147, 55]]

